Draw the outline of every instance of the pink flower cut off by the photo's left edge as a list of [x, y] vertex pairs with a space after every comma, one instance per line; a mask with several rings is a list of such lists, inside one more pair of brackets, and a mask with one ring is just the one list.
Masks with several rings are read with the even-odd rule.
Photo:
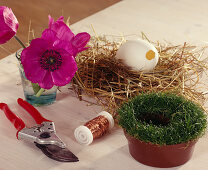
[[19, 26], [10, 8], [0, 6], [0, 25], [0, 44], [4, 44], [16, 34]]

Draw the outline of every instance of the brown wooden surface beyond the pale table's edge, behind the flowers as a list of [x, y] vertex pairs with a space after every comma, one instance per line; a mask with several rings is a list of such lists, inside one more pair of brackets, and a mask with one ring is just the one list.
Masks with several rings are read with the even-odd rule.
[[[12, 8], [19, 21], [17, 36], [24, 42], [28, 42], [28, 30], [31, 29], [35, 37], [48, 26], [48, 15], [57, 19], [63, 15], [65, 21], [70, 17], [73, 24], [87, 16], [90, 16], [120, 0], [0, 0], [1, 6]], [[0, 59], [15, 52], [21, 46], [15, 39], [0, 46]]]

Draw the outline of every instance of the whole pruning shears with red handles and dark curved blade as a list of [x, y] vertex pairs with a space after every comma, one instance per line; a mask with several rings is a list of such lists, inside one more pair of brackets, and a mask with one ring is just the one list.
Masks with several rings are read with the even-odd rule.
[[15, 115], [7, 104], [0, 103], [0, 109], [17, 129], [17, 139], [26, 140], [42, 150], [51, 159], [61, 162], [77, 162], [79, 159], [66, 148], [66, 144], [56, 135], [54, 122], [45, 119], [31, 104], [19, 98], [17, 103], [23, 107], [37, 123], [33, 127], [26, 127], [21, 118]]

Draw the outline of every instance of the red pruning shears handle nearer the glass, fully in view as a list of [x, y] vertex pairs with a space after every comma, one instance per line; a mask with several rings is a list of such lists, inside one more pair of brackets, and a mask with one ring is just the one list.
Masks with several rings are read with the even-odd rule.
[[41, 124], [42, 122], [51, 122], [50, 120], [45, 119], [36, 108], [25, 100], [19, 98], [17, 99], [17, 103], [33, 117], [37, 124]]

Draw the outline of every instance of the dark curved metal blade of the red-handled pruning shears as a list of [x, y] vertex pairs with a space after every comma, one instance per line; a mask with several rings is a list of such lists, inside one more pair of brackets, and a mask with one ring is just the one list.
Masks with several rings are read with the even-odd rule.
[[57, 145], [42, 145], [35, 143], [42, 152], [51, 159], [60, 162], [77, 162], [79, 159], [67, 148], [61, 148]]

